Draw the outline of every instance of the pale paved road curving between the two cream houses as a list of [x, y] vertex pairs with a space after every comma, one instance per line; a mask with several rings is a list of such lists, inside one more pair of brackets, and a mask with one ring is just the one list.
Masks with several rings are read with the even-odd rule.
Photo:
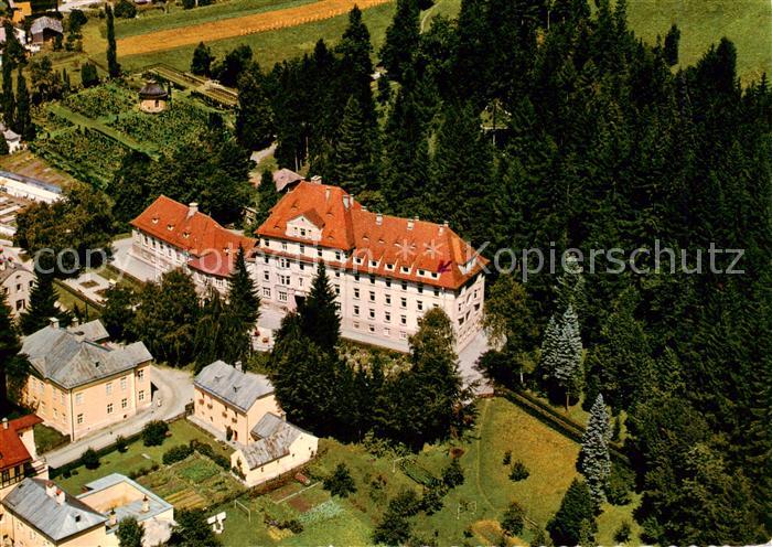
[[[45, 455], [49, 465], [60, 468], [65, 463], [77, 460], [87, 449], [98, 450], [115, 442], [116, 437], [122, 435], [128, 437], [139, 432], [150, 420], [165, 420], [185, 410], [185, 405], [193, 400], [193, 378], [184, 371], [175, 371], [167, 367], [152, 367], [152, 384], [157, 387], [153, 394], [153, 401], [150, 408], [117, 423], [110, 428], [95, 431], [76, 442], [62, 447], [61, 449], [47, 452]], [[158, 401], [162, 404], [159, 407]]]

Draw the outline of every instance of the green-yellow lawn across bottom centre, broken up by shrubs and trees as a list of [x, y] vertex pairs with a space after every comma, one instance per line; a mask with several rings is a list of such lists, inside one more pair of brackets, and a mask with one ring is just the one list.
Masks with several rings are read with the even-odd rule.
[[[429, 446], [417, 454], [415, 464], [440, 476], [450, 462], [449, 450], [463, 450], [460, 462], [465, 481], [449, 492], [442, 510], [433, 515], [420, 514], [411, 519], [412, 532], [422, 538], [437, 533], [439, 545], [495, 545], [501, 539], [498, 519], [506, 506], [518, 501], [527, 517], [537, 526], [546, 526], [557, 511], [570, 482], [578, 475], [575, 463], [579, 446], [562, 437], [540, 421], [522, 411], [505, 399], [480, 401], [478, 428], [463, 441]], [[503, 465], [504, 452], [512, 451], [512, 461], [522, 460], [530, 471], [525, 481], [512, 482], [510, 468]], [[350, 497], [331, 498], [317, 484], [302, 490], [288, 484], [275, 492], [240, 501], [251, 510], [251, 523], [240, 508], [226, 504], [212, 510], [226, 511], [223, 543], [238, 547], [249, 545], [369, 545], [373, 527], [379, 522], [388, 500], [401, 489], [421, 487], [395, 465], [394, 457], [375, 458], [358, 444], [341, 444], [333, 440], [320, 441], [320, 458], [310, 465], [313, 476], [330, 474], [335, 465], [344, 462], [351, 470], [357, 491]], [[380, 483], [380, 487], [374, 487]], [[633, 524], [633, 539], [640, 529], [633, 523], [632, 510], [637, 503], [624, 507], [605, 505], [598, 518], [596, 539], [612, 545], [613, 534], [624, 521]], [[267, 525], [297, 518], [303, 532], [293, 535]], [[464, 538], [464, 530], [472, 532]], [[519, 544], [530, 541], [533, 526], [526, 526]]]

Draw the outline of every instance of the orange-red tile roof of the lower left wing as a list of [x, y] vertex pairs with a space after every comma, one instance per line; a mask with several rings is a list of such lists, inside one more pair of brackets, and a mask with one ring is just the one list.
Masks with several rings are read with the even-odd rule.
[[215, 276], [230, 272], [239, 245], [249, 251], [256, 244], [251, 237], [234, 234], [211, 216], [165, 195], [159, 196], [131, 221], [131, 226], [187, 251], [190, 267]]

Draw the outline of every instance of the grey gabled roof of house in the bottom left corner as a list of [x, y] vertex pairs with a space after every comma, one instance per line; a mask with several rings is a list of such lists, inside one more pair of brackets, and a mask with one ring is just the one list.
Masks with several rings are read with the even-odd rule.
[[62, 493], [61, 504], [56, 501], [56, 495], [46, 492], [46, 481], [29, 478], [20, 482], [0, 503], [54, 543], [104, 525], [107, 521], [76, 497], [56, 486], [52, 487]]

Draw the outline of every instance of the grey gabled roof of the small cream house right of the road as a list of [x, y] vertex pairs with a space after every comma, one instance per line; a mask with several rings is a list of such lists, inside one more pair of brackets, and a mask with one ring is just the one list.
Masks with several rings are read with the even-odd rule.
[[257, 399], [274, 393], [274, 385], [266, 376], [244, 373], [223, 361], [205, 366], [193, 384], [245, 412]]

